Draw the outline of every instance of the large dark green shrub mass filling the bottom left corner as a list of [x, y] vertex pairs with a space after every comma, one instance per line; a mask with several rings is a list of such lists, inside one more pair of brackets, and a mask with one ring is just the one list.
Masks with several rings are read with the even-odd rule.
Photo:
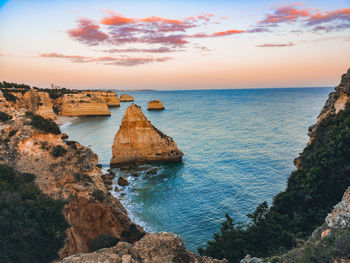
[[0, 262], [51, 262], [64, 245], [64, 202], [43, 194], [34, 179], [0, 165]]

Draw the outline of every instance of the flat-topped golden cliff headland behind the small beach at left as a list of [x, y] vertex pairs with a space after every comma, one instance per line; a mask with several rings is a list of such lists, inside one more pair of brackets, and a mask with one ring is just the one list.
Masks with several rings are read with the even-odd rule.
[[107, 104], [93, 93], [63, 94], [55, 100], [54, 109], [61, 116], [110, 116]]

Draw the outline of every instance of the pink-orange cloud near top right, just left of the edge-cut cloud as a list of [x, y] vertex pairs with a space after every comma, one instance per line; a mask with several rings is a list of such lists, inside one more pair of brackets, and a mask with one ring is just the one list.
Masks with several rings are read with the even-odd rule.
[[295, 8], [296, 5], [299, 4], [276, 8], [273, 14], [267, 14], [266, 18], [260, 21], [259, 24], [277, 25], [280, 23], [295, 22], [299, 18], [310, 16], [309, 9], [297, 9]]

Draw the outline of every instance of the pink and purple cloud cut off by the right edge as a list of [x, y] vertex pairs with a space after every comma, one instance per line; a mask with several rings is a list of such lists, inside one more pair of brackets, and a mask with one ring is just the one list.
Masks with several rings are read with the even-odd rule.
[[307, 20], [307, 25], [319, 25], [332, 21], [347, 21], [350, 22], [350, 8], [342, 8], [335, 11], [327, 11], [311, 15]]

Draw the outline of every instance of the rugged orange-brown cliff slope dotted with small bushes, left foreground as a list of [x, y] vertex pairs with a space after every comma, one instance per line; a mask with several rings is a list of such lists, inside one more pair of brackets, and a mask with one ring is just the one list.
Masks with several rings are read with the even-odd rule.
[[63, 214], [71, 227], [62, 258], [88, 252], [89, 242], [103, 233], [131, 243], [143, 235], [106, 190], [95, 153], [76, 142], [66, 144], [60, 134], [34, 129], [24, 111], [8, 106], [1, 96], [0, 100], [2, 111], [12, 116], [0, 126], [0, 163], [35, 174], [45, 194], [67, 202]]

